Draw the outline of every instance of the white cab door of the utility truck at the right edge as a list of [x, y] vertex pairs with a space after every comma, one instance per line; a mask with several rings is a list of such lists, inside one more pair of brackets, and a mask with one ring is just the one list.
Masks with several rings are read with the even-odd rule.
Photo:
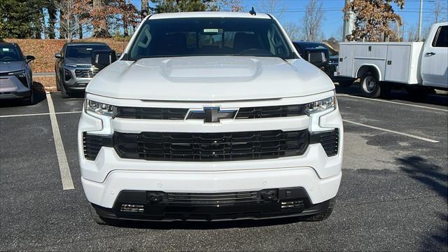
[[421, 55], [423, 85], [448, 87], [448, 23], [430, 30]]

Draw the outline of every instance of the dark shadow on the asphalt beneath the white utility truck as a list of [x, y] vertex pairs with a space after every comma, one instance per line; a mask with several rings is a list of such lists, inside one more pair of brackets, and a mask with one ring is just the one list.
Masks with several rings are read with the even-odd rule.
[[[341, 87], [335, 84], [337, 94], [350, 94], [353, 96], [361, 97], [359, 90], [359, 83], [353, 83], [350, 87]], [[400, 88], [392, 90], [391, 94], [387, 97], [381, 97], [379, 99], [385, 99], [390, 101], [405, 101], [405, 102], [418, 102], [423, 104], [432, 104], [439, 106], [448, 106], [448, 94], [446, 91], [442, 91], [443, 94], [428, 94], [421, 97], [413, 97], [409, 95], [405, 89]]]

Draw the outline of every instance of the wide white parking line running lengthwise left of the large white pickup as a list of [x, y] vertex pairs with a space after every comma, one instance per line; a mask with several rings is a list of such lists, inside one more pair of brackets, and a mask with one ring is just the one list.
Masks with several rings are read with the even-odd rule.
[[53, 138], [55, 139], [57, 162], [59, 162], [59, 172], [61, 172], [62, 189], [71, 190], [75, 189], [73, 186], [73, 180], [71, 179], [71, 173], [69, 168], [69, 162], [64, 151], [64, 144], [62, 144], [61, 133], [59, 132], [59, 125], [57, 125], [57, 118], [55, 113], [55, 107], [53, 106], [53, 100], [51, 94], [47, 92], [48, 109], [50, 111], [51, 128], [53, 131]]

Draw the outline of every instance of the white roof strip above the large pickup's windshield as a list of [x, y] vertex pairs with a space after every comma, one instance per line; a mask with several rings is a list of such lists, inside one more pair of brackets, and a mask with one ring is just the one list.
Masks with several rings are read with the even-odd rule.
[[262, 18], [270, 19], [271, 17], [265, 13], [257, 13], [251, 15], [248, 12], [225, 12], [225, 11], [195, 11], [180, 13], [159, 13], [149, 15], [148, 19], [165, 19], [165, 18]]

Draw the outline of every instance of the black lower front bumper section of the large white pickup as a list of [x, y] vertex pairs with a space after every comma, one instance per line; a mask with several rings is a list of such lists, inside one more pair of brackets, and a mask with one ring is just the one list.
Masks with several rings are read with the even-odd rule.
[[[304, 188], [177, 195], [161, 191], [127, 190], [120, 193], [112, 209], [97, 205], [93, 207], [102, 218], [116, 220], [235, 221], [308, 216], [328, 211], [334, 205], [334, 199], [311, 204]], [[245, 200], [244, 197], [250, 199]]]

